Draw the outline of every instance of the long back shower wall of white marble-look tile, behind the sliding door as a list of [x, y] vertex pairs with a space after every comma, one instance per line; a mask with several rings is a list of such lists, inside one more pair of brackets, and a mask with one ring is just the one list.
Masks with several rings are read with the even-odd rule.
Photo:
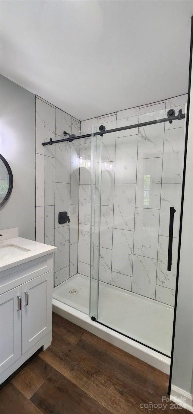
[[[187, 95], [81, 122], [106, 129], [185, 112]], [[102, 139], [99, 279], [174, 306], [184, 120], [112, 132]], [[78, 272], [90, 273], [91, 140], [80, 145]], [[95, 209], [97, 208], [95, 199]], [[172, 272], [167, 271], [169, 210], [175, 207]], [[97, 227], [97, 224], [96, 226]], [[95, 240], [97, 234], [95, 234]], [[94, 243], [97, 244], [97, 243]], [[95, 246], [97, 251], [97, 247]]]

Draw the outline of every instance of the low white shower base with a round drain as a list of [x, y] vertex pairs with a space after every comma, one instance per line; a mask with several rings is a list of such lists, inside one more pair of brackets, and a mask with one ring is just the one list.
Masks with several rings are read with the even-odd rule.
[[55, 287], [54, 312], [169, 374], [170, 359], [157, 351], [171, 354], [174, 309], [99, 282], [98, 321], [142, 343], [139, 344], [91, 320], [88, 316], [89, 287], [90, 278], [82, 274]]

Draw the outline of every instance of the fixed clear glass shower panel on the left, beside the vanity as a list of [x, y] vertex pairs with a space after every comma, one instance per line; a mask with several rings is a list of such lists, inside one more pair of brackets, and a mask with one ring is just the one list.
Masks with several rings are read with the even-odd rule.
[[[80, 130], [80, 123], [76, 125], [74, 120], [72, 126], [71, 132], [76, 136], [91, 134], [91, 128]], [[52, 224], [48, 217], [45, 226], [45, 235], [50, 229], [52, 244], [57, 247], [53, 298], [89, 314], [91, 137], [55, 144], [55, 156], [47, 158], [49, 164], [51, 161], [55, 164], [53, 183], [49, 179], [47, 188], [50, 193], [53, 187]], [[59, 224], [59, 212], [67, 212], [70, 222]]]

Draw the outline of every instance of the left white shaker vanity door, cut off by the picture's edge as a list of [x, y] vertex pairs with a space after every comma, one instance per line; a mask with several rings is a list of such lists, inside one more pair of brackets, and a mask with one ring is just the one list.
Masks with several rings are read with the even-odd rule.
[[21, 356], [21, 286], [0, 295], [0, 374]]

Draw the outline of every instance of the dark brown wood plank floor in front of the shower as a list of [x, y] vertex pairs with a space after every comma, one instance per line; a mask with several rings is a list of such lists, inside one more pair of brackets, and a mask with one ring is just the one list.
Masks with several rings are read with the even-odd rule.
[[[53, 313], [52, 344], [0, 386], [0, 414], [187, 413], [170, 403], [168, 375]], [[164, 403], [165, 404], [165, 403]], [[150, 412], [150, 411], [149, 411]]]

